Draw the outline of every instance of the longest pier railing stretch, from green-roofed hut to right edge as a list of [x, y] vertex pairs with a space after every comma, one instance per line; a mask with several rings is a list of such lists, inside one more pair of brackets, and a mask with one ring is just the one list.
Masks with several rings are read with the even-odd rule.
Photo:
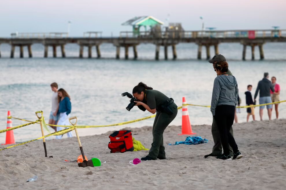
[[120, 32], [121, 38], [265, 38], [286, 37], [286, 30], [230, 30], [230, 31], [163, 31], [154, 33], [143, 31], [133, 33], [132, 31]]

